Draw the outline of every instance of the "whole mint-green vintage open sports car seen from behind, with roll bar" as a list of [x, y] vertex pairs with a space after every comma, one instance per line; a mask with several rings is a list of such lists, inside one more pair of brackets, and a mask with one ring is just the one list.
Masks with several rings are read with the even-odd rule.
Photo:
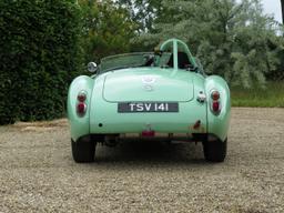
[[72, 155], [94, 161], [98, 142], [202, 142], [204, 156], [223, 162], [231, 115], [230, 90], [207, 77], [187, 45], [165, 41], [154, 52], [118, 54], [88, 64], [68, 94]]

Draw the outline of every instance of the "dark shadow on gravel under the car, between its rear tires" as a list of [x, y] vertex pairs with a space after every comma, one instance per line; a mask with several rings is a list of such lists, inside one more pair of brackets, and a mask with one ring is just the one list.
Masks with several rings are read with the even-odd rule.
[[97, 145], [95, 163], [204, 164], [201, 143], [123, 142], [115, 148]]

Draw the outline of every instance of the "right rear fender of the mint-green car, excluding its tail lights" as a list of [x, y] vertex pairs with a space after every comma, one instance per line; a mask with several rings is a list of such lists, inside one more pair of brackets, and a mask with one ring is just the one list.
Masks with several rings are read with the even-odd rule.
[[[217, 114], [211, 110], [211, 92], [213, 90], [220, 92], [221, 111]], [[217, 75], [211, 75], [205, 80], [205, 91], [207, 97], [207, 133], [214, 134], [221, 141], [225, 141], [231, 118], [230, 89], [224, 79]]]

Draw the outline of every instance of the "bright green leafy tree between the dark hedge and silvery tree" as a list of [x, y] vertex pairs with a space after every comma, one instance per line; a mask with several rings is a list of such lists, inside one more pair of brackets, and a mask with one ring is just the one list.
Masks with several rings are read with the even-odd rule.
[[135, 26], [126, 9], [111, 0], [79, 0], [79, 4], [83, 12], [85, 62], [98, 62], [105, 55], [129, 52]]

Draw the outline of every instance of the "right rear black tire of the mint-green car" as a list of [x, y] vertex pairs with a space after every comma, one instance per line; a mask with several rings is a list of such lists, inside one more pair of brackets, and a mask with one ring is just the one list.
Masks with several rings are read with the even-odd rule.
[[203, 152], [206, 161], [223, 162], [226, 158], [227, 139], [203, 142]]

